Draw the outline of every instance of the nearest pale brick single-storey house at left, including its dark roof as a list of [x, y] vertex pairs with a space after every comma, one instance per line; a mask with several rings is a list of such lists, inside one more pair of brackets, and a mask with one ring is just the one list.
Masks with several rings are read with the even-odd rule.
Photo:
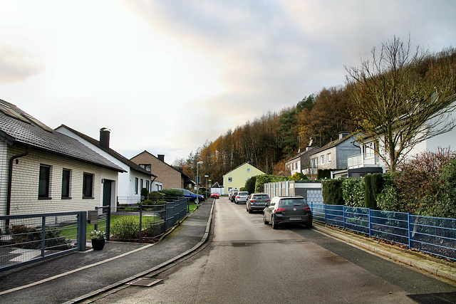
[[78, 140], [0, 100], [0, 215], [108, 205], [117, 196], [119, 172]]

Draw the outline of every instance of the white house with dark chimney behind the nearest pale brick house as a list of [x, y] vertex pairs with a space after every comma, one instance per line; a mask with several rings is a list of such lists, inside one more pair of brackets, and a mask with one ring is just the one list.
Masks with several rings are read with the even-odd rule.
[[109, 147], [110, 130], [101, 128], [100, 140], [95, 140], [66, 125], [57, 127], [56, 131], [73, 137], [125, 171], [119, 174], [117, 200], [119, 204], [135, 204], [140, 201], [142, 188], [147, 189], [148, 192], [155, 189], [152, 184], [155, 182], [156, 176], [152, 172], [140, 167]]

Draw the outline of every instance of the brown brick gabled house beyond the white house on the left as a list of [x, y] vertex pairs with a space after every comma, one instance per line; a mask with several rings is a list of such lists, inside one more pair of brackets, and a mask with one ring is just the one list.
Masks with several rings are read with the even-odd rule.
[[[181, 168], [176, 169], [165, 162], [165, 155], [150, 154], [143, 151], [130, 159], [135, 164], [145, 169], [148, 172], [153, 172], [157, 176], [157, 182], [162, 184], [162, 189], [180, 188], [191, 189], [194, 182], [187, 174], [182, 172]], [[150, 189], [150, 191], [157, 191], [161, 189]]]

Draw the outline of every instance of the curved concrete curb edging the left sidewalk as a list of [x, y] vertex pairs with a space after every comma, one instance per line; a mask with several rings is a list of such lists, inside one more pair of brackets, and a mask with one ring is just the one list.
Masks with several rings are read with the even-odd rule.
[[[163, 268], [165, 266], [168, 266], [170, 265], [171, 263], [174, 263], [175, 261], [177, 261], [178, 259], [180, 258], [183, 258], [187, 255], [189, 255], [190, 253], [192, 253], [193, 251], [196, 251], [199, 247], [202, 246], [202, 244], [204, 244], [207, 239], [209, 238], [209, 232], [210, 232], [210, 226], [212, 224], [212, 215], [213, 215], [213, 212], [214, 212], [214, 206], [215, 204], [212, 203], [212, 208], [211, 208], [211, 211], [209, 212], [209, 219], [207, 220], [207, 225], [206, 225], [206, 230], [204, 231], [204, 235], [202, 236], [202, 239], [201, 241], [199, 241], [199, 243], [197, 243], [195, 246], [193, 246], [193, 248], [190, 248], [189, 250], [185, 251], [184, 253], [181, 253], [180, 255], [178, 256], [175, 256], [174, 258], [171, 258], [170, 260], [168, 261], [165, 261], [163, 263], [161, 263], [160, 265], [157, 265], [155, 267], [152, 267], [150, 269], [147, 269], [146, 271], [142, 271], [141, 273], [138, 273], [136, 274], [135, 276], [130, 276], [130, 278], [125, 278], [124, 280], [122, 281], [119, 281], [117, 283], [113, 283], [111, 285], [108, 285], [104, 288], [100, 288], [98, 290], [95, 290], [91, 293], [87, 293], [86, 295], [81, 295], [81, 297], [78, 297], [78, 298], [74, 298], [72, 300], [68, 300], [66, 301], [65, 303], [63, 304], [72, 304], [72, 303], [79, 303], [83, 300], [87, 300], [88, 298], [92, 298], [94, 297], [95, 295], [98, 295], [100, 293], [105, 293], [109, 290], [113, 290], [114, 288], [118, 288], [119, 286], [121, 285], [125, 285], [126, 283], [130, 282], [130, 281], [134, 281], [134, 280], [137, 280], [138, 278], [141, 278], [143, 276], [146, 276], [148, 273], [151, 273], [151, 272], [154, 272], [154, 271], [157, 271], [159, 270], [160, 268]], [[196, 210], [196, 209], [195, 209]], [[190, 214], [190, 216], [192, 216], [192, 214]], [[185, 217], [186, 219], [187, 217]], [[182, 221], [184, 221], [185, 219], [182, 219]], [[181, 221], [181, 223], [182, 223]], [[167, 236], [168, 234], [171, 234], [172, 231], [174, 231], [176, 227], [173, 227], [173, 229], [171, 229], [170, 231], [167, 232], [167, 234], [165, 234], [162, 239]], [[161, 240], [161, 239], [160, 239]], [[90, 302], [89, 302], [90, 303]]]

